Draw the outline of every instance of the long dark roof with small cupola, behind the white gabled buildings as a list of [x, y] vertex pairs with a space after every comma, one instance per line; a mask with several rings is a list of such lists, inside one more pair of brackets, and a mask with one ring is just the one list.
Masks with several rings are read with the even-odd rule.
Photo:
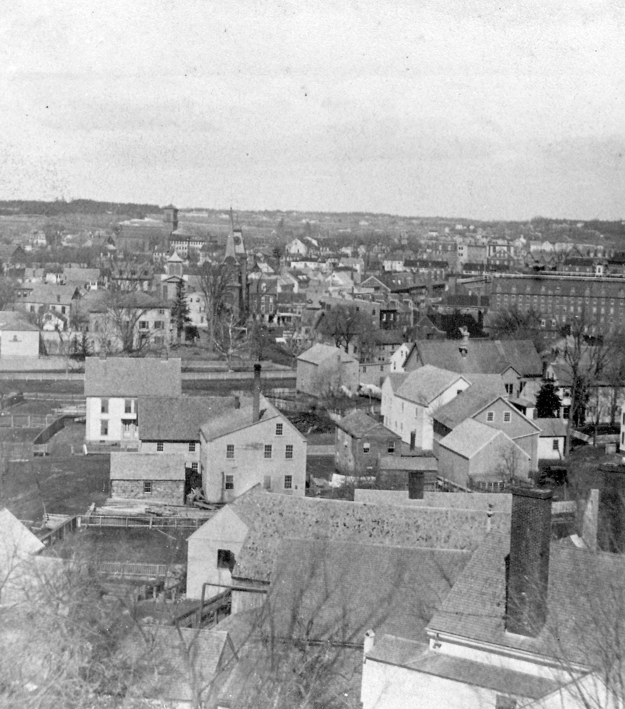
[[539, 376], [541, 358], [530, 340], [469, 340], [467, 355], [460, 354], [461, 340], [419, 340], [416, 349], [423, 364], [433, 364], [460, 374], [501, 374], [513, 367], [522, 376]]

